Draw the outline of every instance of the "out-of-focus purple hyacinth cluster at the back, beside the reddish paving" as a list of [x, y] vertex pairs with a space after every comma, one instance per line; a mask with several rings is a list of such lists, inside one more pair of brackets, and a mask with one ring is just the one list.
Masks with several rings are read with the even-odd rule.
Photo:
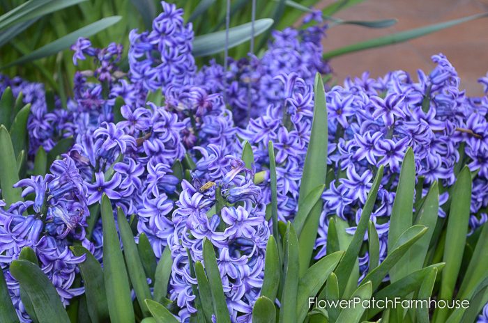
[[283, 84], [275, 81], [278, 75], [296, 72], [312, 84], [316, 72], [330, 73], [322, 58], [326, 25], [317, 25], [322, 22], [321, 15], [313, 15], [313, 21], [310, 17], [306, 22], [311, 25], [306, 28], [273, 31], [273, 40], [259, 58], [250, 54], [249, 58], [230, 59], [229, 70], [211, 61], [199, 70], [195, 84], [209, 93], [222, 93], [236, 125], [245, 127], [250, 118], [266, 113], [270, 104], [282, 104], [287, 98]]

